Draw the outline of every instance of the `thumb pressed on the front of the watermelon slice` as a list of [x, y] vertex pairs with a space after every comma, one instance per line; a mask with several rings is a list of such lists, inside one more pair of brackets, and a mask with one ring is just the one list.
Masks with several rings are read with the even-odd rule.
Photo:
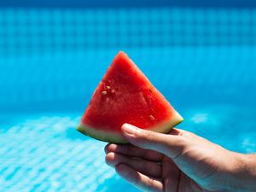
[[176, 158], [188, 146], [186, 139], [179, 135], [167, 135], [140, 129], [134, 125], [124, 124], [121, 127], [129, 143], [139, 147], [158, 151], [170, 158]]

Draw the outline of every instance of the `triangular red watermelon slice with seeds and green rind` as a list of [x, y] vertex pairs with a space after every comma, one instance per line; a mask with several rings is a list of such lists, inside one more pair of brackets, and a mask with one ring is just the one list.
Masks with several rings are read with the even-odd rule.
[[108, 143], [127, 143], [120, 128], [128, 123], [166, 133], [183, 118], [120, 51], [96, 88], [78, 131]]

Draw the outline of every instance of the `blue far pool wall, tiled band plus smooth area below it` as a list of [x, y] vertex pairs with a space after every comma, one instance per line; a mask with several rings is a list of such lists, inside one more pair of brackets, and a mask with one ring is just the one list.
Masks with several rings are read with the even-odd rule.
[[119, 49], [178, 105], [253, 100], [255, 34], [256, 9], [0, 9], [0, 107], [81, 110]]

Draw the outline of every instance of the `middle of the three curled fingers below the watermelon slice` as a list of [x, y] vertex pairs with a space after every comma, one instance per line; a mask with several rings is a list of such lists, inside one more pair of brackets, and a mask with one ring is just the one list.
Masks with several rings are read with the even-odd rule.
[[125, 164], [137, 170], [138, 172], [142, 172], [148, 176], [161, 177], [160, 164], [152, 161], [131, 159], [122, 154], [114, 154], [113, 152], [110, 152], [106, 155], [106, 162], [108, 166], [114, 167], [119, 164]]

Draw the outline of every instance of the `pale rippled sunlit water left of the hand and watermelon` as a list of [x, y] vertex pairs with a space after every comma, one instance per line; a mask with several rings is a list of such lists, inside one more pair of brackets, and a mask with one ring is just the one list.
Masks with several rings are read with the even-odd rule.
[[117, 183], [104, 162], [105, 144], [75, 131], [78, 123], [73, 114], [38, 115], [2, 127], [0, 191], [107, 191], [102, 183]]

